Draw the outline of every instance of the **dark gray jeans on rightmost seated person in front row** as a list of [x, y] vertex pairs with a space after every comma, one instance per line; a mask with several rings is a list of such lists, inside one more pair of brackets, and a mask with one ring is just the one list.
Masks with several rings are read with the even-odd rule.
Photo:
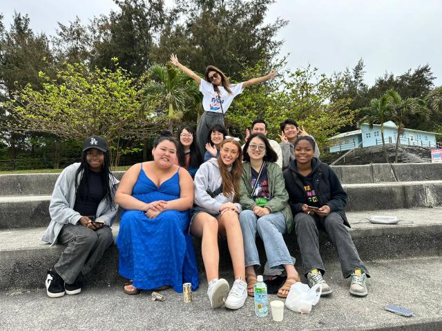
[[340, 268], [344, 278], [349, 277], [355, 269], [364, 270], [367, 277], [369, 277], [368, 270], [359, 258], [353, 239], [340, 214], [331, 212], [327, 217], [318, 217], [318, 215], [312, 216], [299, 212], [295, 215], [294, 220], [302, 264], [306, 274], [312, 269], [318, 269], [322, 274], [325, 273], [323, 259], [319, 254], [318, 235], [319, 229], [322, 229], [327, 232], [338, 252]]

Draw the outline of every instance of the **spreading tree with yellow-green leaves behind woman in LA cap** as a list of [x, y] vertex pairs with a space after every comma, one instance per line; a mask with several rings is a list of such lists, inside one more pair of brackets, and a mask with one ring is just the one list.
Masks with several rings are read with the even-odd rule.
[[137, 81], [117, 63], [114, 70], [90, 70], [84, 64], [65, 63], [57, 68], [56, 78], [44, 72], [39, 76], [45, 81], [41, 91], [28, 84], [7, 103], [18, 119], [17, 130], [77, 141], [99, 134], [115, 151], [115, 162], [125, 152], [123, 139], [155, 134], [155, 118], [141, 108]]

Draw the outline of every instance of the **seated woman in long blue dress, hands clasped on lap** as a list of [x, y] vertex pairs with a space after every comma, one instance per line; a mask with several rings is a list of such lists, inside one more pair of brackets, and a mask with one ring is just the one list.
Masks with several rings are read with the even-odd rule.
[[124, 208], [119, 224], [119, 274], [131, 279], [126, 294], [163, 290], [182, 292], [183, 283], [198, 288], [199, 276], [188, 233], [193, 181], [175, 165], [177, 141], [160, 137], [153, 161], [137, 163], [124, 174], [115, 201]]

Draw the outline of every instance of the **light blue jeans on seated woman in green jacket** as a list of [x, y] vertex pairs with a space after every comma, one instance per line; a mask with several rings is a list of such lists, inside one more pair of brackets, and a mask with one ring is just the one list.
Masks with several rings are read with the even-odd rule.
[[246, 267], [260, 265], [258, 249], [256, 248], [256, 232], [262, 239], [269, 267], [293, 265], [289, 250], [282, 234], [287, 231], [282, 212], [257, 217], [252, 210], [243, 210], [240, 214], [242, 239], [244, 240], [244, 255]]

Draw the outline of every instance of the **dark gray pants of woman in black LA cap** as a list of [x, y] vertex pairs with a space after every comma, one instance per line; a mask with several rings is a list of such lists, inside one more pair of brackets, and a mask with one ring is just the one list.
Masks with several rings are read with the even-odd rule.
[[58, 242], [67, 244], [54, 265], [54, 269], [68, 284], [72, 284], [81, 272], [87, 274], [102, 258], [104, 251], [113, 243], [112, 230], [103, 226], [94, 231], [78, 223], [61, 228]]

